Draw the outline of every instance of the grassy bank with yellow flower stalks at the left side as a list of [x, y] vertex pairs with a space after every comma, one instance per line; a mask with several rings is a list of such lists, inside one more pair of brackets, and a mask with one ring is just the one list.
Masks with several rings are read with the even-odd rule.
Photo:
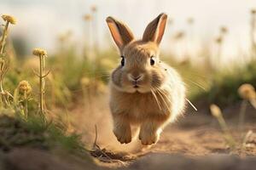
[[[7, 33], [4, 32], [8, 32], [9, 23], [14, 23], [14, 18], [9, 15], [3, 15], [2, 18], [6, 21], [6, 25], [0, 43], [1, 61], [3, 61], [3, 65], [6, 64], [7, 60], [9, 63], [8, 69], [0, 71], [1, 85], [4, 85], [4, 89], [1, 86], [0, 105], [1, 149], [7, 151], [15, 147], [29, 146], [44, 150], [60, 149], [76, 155], [87, 153], [79, 134], [67, 133], [67, 125], [61, 119], [52, 118], [54, 116], [50, 114], [53, 113], [44, 110], [44, 93], [47, 91], [47, 88], [44, 86], [44, 79], [49, 74], [44, 71], [46, 52], [41, 49], [33, 51], [33, 54], [39, 57], [38, 63], [35, 63], [39, 65], [39, 72], [35, 73], [39, 77], [38, 81], [35, 75], [33, 75], [32, 70], [28, 71], [26, 69], [26, 64], [18, 67], [21, 64], [20, 60], [15, 59], [14, 56], [9, 54], [9, 51], [5, 50]], [[72, 61], [72, 59], [67, 59], [66, 64], [69, 61]], [[64, 68], [65, 66], [67, 65], [64, 65]], [[5, 67], [2, 66], [1, 68]], [[18, 71], [16, 68], [20, 70]], [[79, 81], [73, 81], [72, 78], [75, 76], [71, 76], [71, 74], [78, 74], [74, 72], [70, 74], [68, 71], [66, 76], [70, 76], [69, 82], [74, 82], [74, 84], [70, 83], [67, 85], [72, 87], [79, 84]], [[59, 75], [61, 74], [59, 73]], [[62, 103], [64, 105], [67, 100], [62, 98], [67, 98], [68, 94], [65, 94], [65, 90], [63, 90], [65, 86], [61, 86], [61, 84], [65, 84], [67, 79], [55, 79], [54, 76], [52, 74], [51, 79], [49, 78], [50, 85], [52, 86], [51, 97], [55, 96], [57, 100], [54, 104]], [[57, 83], [57, 81], [60, 82]], [[30, 82], [32, 82], [33, 86], [31, 86]], [[39, 86], [37, 86], [38, 82]]]

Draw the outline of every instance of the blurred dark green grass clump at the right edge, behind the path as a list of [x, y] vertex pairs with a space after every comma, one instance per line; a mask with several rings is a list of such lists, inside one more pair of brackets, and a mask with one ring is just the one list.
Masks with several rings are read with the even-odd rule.
[[207, 99], [208, 103], [228, 106], [241, 100], [237, 89], [243, 83], [256, 84], [256, 60], [245, 66], [235, 65], [231, 71], [218, 71], [210, 82], [209, 89], [198, 94], [197, 99]]

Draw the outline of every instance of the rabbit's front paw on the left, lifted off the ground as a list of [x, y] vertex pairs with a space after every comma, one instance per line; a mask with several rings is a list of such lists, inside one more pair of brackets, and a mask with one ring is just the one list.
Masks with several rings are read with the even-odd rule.
[[117, 127], [113, 129], [113, 133], [121, 144], [131, 142], [131, 127]]

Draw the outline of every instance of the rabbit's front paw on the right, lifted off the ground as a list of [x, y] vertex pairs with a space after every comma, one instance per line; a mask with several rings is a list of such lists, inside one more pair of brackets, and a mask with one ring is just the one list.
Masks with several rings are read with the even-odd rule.
[[148, 132], [140, 132], [139, 139], [141, 140], [142, 144], [155, 144], [159, 139], [158, 133], [148, 133]]

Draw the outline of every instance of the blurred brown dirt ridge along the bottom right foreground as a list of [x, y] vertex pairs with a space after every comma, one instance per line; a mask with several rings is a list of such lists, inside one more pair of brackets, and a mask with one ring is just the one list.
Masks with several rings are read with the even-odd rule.
[[214, 154], [198, 158], [183, 155], [152, 153], [126, 167], [125, 170], [254, 170], [255, 158]]

